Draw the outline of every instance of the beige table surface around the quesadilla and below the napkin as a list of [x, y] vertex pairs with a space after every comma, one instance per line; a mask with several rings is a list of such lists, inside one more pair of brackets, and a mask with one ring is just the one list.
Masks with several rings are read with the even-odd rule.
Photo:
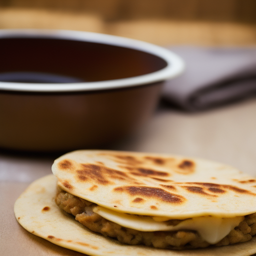
[[[207, 158], [256, 176], [255, 115], [255, 98], [197, 113], [161, 106], [136, 134], [108, 149]], [[51, 173], [55, 157], [0, 151], [0, 255], [84, 255], [29, 233], [14, 217], [16, 198]]]

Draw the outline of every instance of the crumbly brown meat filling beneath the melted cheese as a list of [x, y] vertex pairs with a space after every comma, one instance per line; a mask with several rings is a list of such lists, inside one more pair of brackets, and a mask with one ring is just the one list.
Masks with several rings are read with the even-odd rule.
[[[118, 241], [123, 243], [145, 244], [157, 248], [171, 249], [199, 248], [211, 245], [193, 230], [147, 232], [123, 227], [93, 212], [92, 208], [96, 205], [95, 203], [74, 196], [60, 187], [57, 187], [55, 202], [59, 208], [74, 215], [76, 220], [90, 230], [99, 232], [104, 236], [117, 238]], [[256, 213], [252, 213], [246, 215], [238, 226], [214, 245], [221, 246], [248, 241], [255, 233]]]

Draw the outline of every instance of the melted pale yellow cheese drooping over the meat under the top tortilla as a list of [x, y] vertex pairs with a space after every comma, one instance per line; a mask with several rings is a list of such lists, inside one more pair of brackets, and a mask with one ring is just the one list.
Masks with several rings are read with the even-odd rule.
[[214, 244], [225, 237], [244, 216], [232, 218], [219, 218], [213, 216], [193, 217], [181, 220], [176, 225], [166, 221], [166, 217], [150, 217], [133, 215], [95, 206], [93, 211], [100, 216], [115, 222], [121, 226], [133, 228], [140, 231], [174, 231], [180, 229], [195, 230], [208, 243]]

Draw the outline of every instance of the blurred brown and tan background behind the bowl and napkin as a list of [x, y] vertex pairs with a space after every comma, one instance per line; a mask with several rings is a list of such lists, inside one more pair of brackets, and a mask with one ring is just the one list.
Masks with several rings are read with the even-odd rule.
[[0, 28], [57, 28], [158, 45], [256, 44], [255, 0], [1, 0]]

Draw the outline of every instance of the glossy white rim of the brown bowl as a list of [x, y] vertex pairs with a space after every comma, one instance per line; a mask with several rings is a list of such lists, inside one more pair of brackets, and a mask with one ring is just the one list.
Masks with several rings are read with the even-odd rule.
[[25, 83], [25, 82], [2, 82], [0, 81], [0, 90], [15, 91], [38, 91], [38, 92], [64, 92], [64, 91], [89, 91], [102, 89], [117, 89], [123, 87], [138, 86], [154, 83], [169, 78], [173, 78], [184, 70], [183, 60], [175, 53], [160, 46], [130, 39], [121, 36], [108, 35], [102, 33], [74, 31], [74, 30], [51, 30], [51, 29], [0, 29], [0, 38], [15, 37], [40, 37], [72, 39], [78, 41], [89, 41], [105, 43], [110, 45], [122, 46], [131, 49], [141, 50], [151, 53], [164, 59], [167, 65], [155, 72], [148, 74], [103, 80], [93, 82], [70, 82], [70, 83]]

